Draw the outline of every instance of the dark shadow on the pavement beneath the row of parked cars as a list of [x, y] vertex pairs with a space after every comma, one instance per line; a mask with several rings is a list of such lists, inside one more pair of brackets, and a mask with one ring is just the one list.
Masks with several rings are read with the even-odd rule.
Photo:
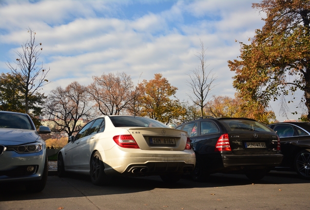
[[207, 182], [194, 182], [189, 175], [175, 184], [163, 182], [159, 176], [116, 177], [110, 186], [95, 186], [86, 175], [69, 174], [68, 177], [48, 176], [45, 189], [39, 193], [28, 193], [18, 183], [5, 184], [1, 187], [0, 201], [84, 197], [95, 195], [124, 194], [151, 191], [155, 188], [188, 189], [216, 188], [252, 184], [297, 184], [310, 183], [299, 179], [296, 173], [271, 171], [262, 180], [252, 183], [245, 175], [214, 174]]

